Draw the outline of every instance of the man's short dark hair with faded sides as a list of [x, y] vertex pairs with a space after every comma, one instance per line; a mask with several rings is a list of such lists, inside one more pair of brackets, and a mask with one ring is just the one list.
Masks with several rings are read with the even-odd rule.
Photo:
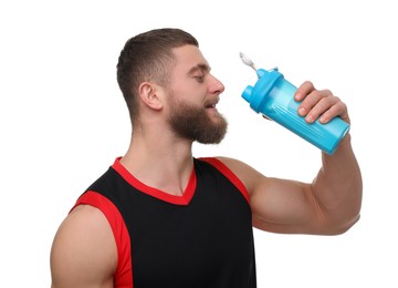
[[127, 103], [132, 123], [139, 113], [139, 84], [153, 81], [167, 86], [175, 60], [171, 50], [186, 44], [199, 47], [190, 33], [174, 28], [150, 30], [126, 42], [117, 62], [117, 82]]

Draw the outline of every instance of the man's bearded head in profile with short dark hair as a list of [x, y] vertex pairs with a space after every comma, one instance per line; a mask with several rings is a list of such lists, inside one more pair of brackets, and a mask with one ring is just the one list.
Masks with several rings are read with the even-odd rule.
[[227, 121], [214, 105], [223, 91], [210, 74], [198, 41], [179, 29], [157, 29], [129, 39], [121, 52], [117, 81], [133, 125], [139, 123], [143, 88], [166, 91], [161, 105], [170, 130], [180, 137], [219, 143]]

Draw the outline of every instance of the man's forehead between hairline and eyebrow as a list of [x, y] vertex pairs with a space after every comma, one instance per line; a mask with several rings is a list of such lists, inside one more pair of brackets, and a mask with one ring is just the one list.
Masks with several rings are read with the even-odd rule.
[[189, 73], [192, 70], [210, 70], [209, 63], [196, 45], [184, 45], [172, 49], [176, 56], [175, 69], [182, 73]]

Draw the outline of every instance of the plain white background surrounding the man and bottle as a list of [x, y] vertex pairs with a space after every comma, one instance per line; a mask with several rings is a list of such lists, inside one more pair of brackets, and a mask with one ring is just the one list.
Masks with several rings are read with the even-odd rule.
[[259, 287], [398, 287], [397, 8], [394, 1], [2, 1], [0, 287], [50, 287], [53, 236], [80, 194], [129, 142], [116, 83], [125, 41], [191, 32], [226, 85], [230, 123], [196, 156], [240, 158], [269, 176], [312, 181], [320, 152], [241, 99], [258, 66], [329, 89], [348, 105], [364, 177], [360, 222], [342, 236], [255, 232]]

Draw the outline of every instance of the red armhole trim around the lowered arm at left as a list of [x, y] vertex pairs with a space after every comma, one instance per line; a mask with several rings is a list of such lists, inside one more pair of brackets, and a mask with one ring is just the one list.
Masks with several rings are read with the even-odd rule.
[[71, 212], [78, 205], [91, 205], [98, 208], [105, 215], [111, 225], [117, 247], [115, 287], [133, 287], [130, 238], [119, 210], [107, 197], [93, 191], [84, 193], [76, 200]]

